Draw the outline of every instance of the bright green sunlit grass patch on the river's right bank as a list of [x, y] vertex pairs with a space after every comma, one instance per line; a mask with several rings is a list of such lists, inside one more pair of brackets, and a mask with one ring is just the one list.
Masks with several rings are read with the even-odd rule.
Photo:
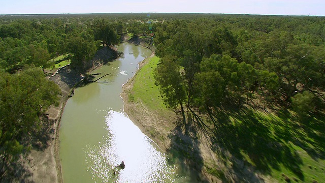
[[132, 90], [132, 100], [142, 102], [149, 109], [160, 114], [170, 112], [160, 97], [159, 88], [154, 84], [153, 70], [157, 67], [159, 58], [154, 56], [144, 65], [135, 76]]

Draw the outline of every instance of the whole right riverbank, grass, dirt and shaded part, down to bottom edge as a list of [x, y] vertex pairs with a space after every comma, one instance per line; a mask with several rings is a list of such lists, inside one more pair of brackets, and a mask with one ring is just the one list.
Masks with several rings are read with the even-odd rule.
[[158, 63], [154, 52], [140, 62], [135, 75], [122, 86], [121, 97], [124, 112], [168, 155], [170, 162], [187, 171], [191, 182], [273, 182], [214, 144], [226, 156], [221, 157], [205, 132], [190, 126], [189, 135], [185, 134], [179, 126], [182, 117], [165, 107], [154, 84], [153, 72]]

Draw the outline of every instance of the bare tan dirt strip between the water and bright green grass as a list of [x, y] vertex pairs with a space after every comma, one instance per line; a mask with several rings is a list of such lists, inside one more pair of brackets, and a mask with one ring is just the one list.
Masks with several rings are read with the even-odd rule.
[[[126, 41], [128, 43], [135, 44], [135, 45], [146, 47], [146, 48], [150, 49], [152, 51], [152, 53], [150, 56], [148, 56], [147, 58], [142, 60], [142, 62], [138, 63], [139, 69], [137, 69], [134, 76], [132, 78], [128, 79], [128, 81], [122, 85], [122, 93], [120, 94], [120, 96], [123, 98], [123, 102], [124, 102], [123, 110], [128, 115], [128, 117], [133, 121], [133, 123], [136, 126], [138, 126], [139, 129], [144, 134], [146, 134], [148, 137], [150, 137], [159, 146], [159, 148], [166, 153], [168, 147], [170, 146], [170, 141], [168, 140], [168, 138], [166, 138], [169, 135], [169, 133], [166, 132], [166, 128], [167, 128], [166, 126], [164, 128], [160, 128], [160, 129], [158, 129], [158, 127], [162, 127], [163, 123], [165, 123], [166, 120], [176, 120], [177, 119], [176, 114], [166, 108], [165, 108], [165, 110], [160, 110], [160, 113], [153, 112], [149, 108], [147, 108], [142, 103], [142, 101], [135, 102], [134, 95], [132, 94], [133, 93], [132, 90], [133, 90], [134, 84], [136, 82], [136, 78], [139, 78], [139, 77], [143, 77], [143, 78], [146, 77], [146, 78], [144, 78], [144, 81], [147, 81], [147, 83], [146, 83], [147, 86], [141, 88], [141, 90], [142, 90], [141, 93], [148, 92], [148, 89], [151, 87], [156, 87], [154, 85], [154, 78], [151, 76], [150, 73], [148, 73], [148, 75], [139, 76], [139, 72], [141, 71], [141, 69], [145, 65], [148, 66], [151, 59], [156, 57], [155, 52], [152, 49], [152, 47], [150, 47], [144, 40], [141, 40], [138, 37], [130, 39], [126, 35], [124, 37], [124, 41]], [[152, 63], [152, 64], [154, 65], [156, 63]], [[153, 66], [151, 65], [149, 67], [153, 67]], [[148, 79], [149, 79], [148, 77], [151, 77], [150, 83], [148, 82]], [[149, 90], [149, 92], [150, 92], [150, 90]], [[148, 95], [152, 95], [152, 94], [148, 94]], [[160, 95], [159, 95], [159, 93], [155, 93], [151, 97], [158, 98], [158, 97], [160, 97]], [[154, 100], [152, 100], [152, 101], [154, 101]], [[155, 103], [153, 105], [157, 105], [157, 104]], [[160, 106], [163, 106], [163, 105], [164, 104], [162, 103], [162, 101], [160, 101]], [[161, 116], [165, 116], [166, 118], [164, 118], [164, 117], [161, 118]], [[155, 123], [152, 123], [152, 121], [155, 121]], [[158, 126], [155, 126], [155, 125], [158, 125]], [[174, 125], [168, 127], [168, 130], [172, 129], [173, 127], [174, 127]]]

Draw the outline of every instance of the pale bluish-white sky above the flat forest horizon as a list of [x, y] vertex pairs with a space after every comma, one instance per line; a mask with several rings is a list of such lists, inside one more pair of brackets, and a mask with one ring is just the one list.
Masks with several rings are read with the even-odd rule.
[[0, 0], [0, 14], [227, 13], [325, 15], [324, 0]]

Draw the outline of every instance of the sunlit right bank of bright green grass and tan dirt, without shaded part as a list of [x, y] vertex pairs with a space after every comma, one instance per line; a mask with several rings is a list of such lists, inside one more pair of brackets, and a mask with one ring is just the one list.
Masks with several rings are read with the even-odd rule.
[[158, 87], [154, 84], [153, 70], [159, 59], [152, 54], [140, 63], [135, 76], [123, 85], [121, 96], [124, 100], [124, 111], [136, 123], [143, 133], [153, 139], [160, 148], [167, 148], [167, 131], [173, 124], [175, 113], [168, 110], [161, 100]]

